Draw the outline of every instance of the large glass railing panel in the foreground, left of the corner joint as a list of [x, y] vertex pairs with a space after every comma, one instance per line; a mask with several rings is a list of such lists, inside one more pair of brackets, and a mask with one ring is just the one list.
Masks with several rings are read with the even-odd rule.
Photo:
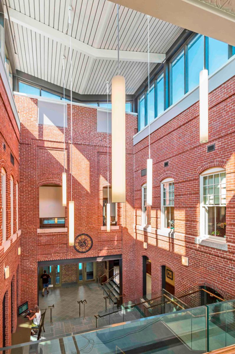
[[[60, 353], [155, 353], [161, 351], [165, 354], [185, 353], [185, 348], [206, 351], [202, 341], [197, 336], [199, 330], [206, 330], [203, 310], [188, 309], [173, 314], [142, 318], [120, 325], [106, 327], [81, 334], [60, 336], [36, 341], [24, 346], [12, 349], [13, 354], [27, 352], [40, 354]], [[199, 316], [200, 315], [200, 316]], [[193, 316], [199, 316], [199, 324], [192, 323]], [[196, 321], [196, 319], [194, 319]], [[193, 339], [194, 338], [194, 341]], [[22, 348], [23, 347], [23, 348]], [[137, 350], [138, 349], [138, 350]], [[188, 352], [188, 351], [186, 351]], [[0, 353], [4, 352], [0, 350]]]

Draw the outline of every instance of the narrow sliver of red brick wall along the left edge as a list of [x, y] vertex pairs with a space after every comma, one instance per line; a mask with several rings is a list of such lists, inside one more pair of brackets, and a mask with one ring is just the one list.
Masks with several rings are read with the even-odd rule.
[[[3, 149], [6, 145], [6, 151]], [[10, 161], [10, 153], [15, 158], [14, 166]], [[17, 281], [19, 288], [19, 277], [17, 279], [17, 268], [19, 267], [18, 247], [20, 233], [16, 227], [16, 182], [18, 183], [18, 194], [20, 190], [19, 181], [19, 130], [12, 113], [10, 102], [0, 76], [0, 169], [6, 172], [6, 241], [2, 242], [2, 228], [0, 226], [0, 346], [2, 346], [2, 300], [6, 294], [6, 345], [11, 344], [11, 301], [13, 303], [13, 331], [17, 323]], [[10, 177], [13, 177], [13, 234], [11, 235], [11, 210], [10, 210]], [[0, 181], [0, 190], [1, 190]], [[0, 198], [1, 208], [1, 198]], [[20, 206], [18, 204], [18, 209]], [[2, 225], [2, 212], [0, 211], [0, 225]], [[18, 228], [20, 229], [20, 223]], [[10, 241], [10, 242], [9, 242]], [[9, 245], [8, 249], [6, 245]], [[4, 252], [5, 246], [5, 252]], [[5, 279], [4, 268], [9, 266], [10, 276]], [[12, 282], [12, 300], [11, 300]], [[18, 302], [19, 305], [19, 302]]]

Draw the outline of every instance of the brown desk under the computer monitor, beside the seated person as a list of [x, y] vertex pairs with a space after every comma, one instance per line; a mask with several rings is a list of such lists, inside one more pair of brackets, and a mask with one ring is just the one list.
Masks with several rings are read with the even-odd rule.
[[[25, 316], [26, 314], [24, 314]], [[32, 321], [29, 321], [28, 318], [24, 318], [24, 316], [18, 316], [17, 317], [17, 326], [16, 326], [16, 332], [12, 333], [11, 335], [11, 345], [13, 346], [14, 344], [21, 344], [21, 343], [27, 343], [30, 342], [30, 335], [31, 335], [31, 325]], [[22, 353], [27, 353], [25, 352], [24, 349], [27, 350], [28, 346], [25, 348], [22, 348]], [[28, 348], [29, 352], [29, 348]], [[19, 353], [19, 349], [11, 349], [11, 353]]]

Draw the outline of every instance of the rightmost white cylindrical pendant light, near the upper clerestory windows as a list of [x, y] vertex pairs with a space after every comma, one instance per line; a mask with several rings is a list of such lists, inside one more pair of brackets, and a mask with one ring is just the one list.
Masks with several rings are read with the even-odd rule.
[[199, 74], [200, 143], [208, 142], [208, 71]]

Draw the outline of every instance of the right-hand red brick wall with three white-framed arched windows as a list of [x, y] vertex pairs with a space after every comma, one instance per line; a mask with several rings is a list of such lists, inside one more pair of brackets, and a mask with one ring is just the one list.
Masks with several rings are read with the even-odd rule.
[[[151, 134], [153, 159], [153, 205], [151, 227], [161, 228], [160, 182], [174, 178], [175, 239], [158, 235], [156, 230], [144, 232], [136, 229], [135, 284], [137, 297], [142, 295], [142, 256], [151, 259], [152, 292], [161, 290], [161, 265], [175, 272], [176, 294], [204, 282], [235, 296], [235, 78], [230, 79], [209, 95], [209, 142], [216, 150], [207, 153], [208, 144], [199, 143], [199, 103]], [[148, 137], [134, 146], [135, 223], [141, 225], [141, 186], [146, 176]], [[164, 167], [164, 161], [169, 166]], [[199, 236], [200, 190], [202, 171], [221, 166], [227, 174], [226, 241], [228, 251], [195, 244]], [[148, 248], [143, 249], [143, 241]], [[181, 256], [189, 258], [189, 266], [181, 264]]]

